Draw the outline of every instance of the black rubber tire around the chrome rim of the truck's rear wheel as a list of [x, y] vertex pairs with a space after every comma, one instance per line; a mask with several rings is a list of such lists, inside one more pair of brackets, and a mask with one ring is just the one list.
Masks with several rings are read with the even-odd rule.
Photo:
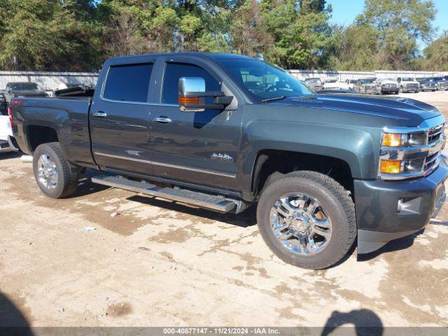
[[[57, 182], [52, 188], [47, 188], [45, 184], [39, 179], [39, 158], [41, 155], [48, 155], [48, 158], [55, 163], [57, 171]], [[33, 171], [36, 178], [37, 185], [42, 193], [51, 198], [62, 198], [75, 193], [78, 188], [78, 167], [71, 165], [69, 161], [64, 158], [61, 146], [57, 142], [42, 144], [36, 148], [33, 155]]]

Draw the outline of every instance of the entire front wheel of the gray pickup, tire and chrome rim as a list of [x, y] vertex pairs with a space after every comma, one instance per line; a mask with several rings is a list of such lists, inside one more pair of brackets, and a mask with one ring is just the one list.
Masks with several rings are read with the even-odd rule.
[[353, 200], [335, 180], [293, 172], [272, 182], [258, 202], [265, 243], [284, 262], [323, 269], [341, 260], [356, 237]]

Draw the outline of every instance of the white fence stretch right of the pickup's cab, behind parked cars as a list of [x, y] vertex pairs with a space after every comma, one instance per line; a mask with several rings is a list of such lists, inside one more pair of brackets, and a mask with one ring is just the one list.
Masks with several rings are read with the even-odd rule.
[[437, 71], [325, 71], [325, 70], [288, 70], [289, 73], [297, 79], [305, 80], [307, 78], [321, 78], [321, 79], [358, 79], [365, 77], [377, 78], [398, 78], [398, 77], [437, 77], [446, 76], [448, 72]]

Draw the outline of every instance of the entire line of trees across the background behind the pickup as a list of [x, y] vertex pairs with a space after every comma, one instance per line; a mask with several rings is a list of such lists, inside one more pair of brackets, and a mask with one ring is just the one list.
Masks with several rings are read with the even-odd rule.
[[0, 69], [96, 71], [108, 57], [195, 50], [261, 52], [286, 69], [448, 71], [433, 0], [365, 0], [348, 27], [331, 13], [325, 0], [2, 0]]

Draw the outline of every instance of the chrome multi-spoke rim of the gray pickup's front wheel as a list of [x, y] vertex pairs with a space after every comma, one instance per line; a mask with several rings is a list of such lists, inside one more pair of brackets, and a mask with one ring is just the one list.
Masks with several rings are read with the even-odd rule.
[[320, 253], [330, 242], [330, 216], [314, 197], [302, 193], [283, 195], [270, 215], [274, 237], [295, 254]]

